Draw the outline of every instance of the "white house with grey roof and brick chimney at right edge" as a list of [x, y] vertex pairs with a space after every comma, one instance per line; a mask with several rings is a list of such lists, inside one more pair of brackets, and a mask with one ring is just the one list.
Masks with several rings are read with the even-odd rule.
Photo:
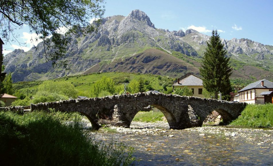
[[262, 79], [239, 90], [239, 102], [246, 102], [249, 104], [272, 103], [272, 91], [273, 83], [266, 79]]

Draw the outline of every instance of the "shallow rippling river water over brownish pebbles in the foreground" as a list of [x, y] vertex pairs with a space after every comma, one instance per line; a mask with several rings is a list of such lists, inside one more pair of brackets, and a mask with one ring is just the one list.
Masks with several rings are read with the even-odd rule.
[[[210, 129], [215, 130], [213, 127], [206, 128]], [[257, 139], [246, 141], [244, 137], [195, 130], [164, 129], [155, 134], [125, 133], [102, 130], [94, 136], [95, 140], [114, 140], [134, 147], [134, 165], [273, 165], [273, 142]], [[262, 134], [272, 138], [273, 130], [263, 130]]]

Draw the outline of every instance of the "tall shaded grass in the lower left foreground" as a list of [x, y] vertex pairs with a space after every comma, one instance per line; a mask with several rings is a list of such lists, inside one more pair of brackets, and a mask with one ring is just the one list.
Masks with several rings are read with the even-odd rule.
[[79, 122], [64, 124], [64, 117], [68, 114], [1, 112], [1, 165], [130, 165], [132, 149], [95, 142]]

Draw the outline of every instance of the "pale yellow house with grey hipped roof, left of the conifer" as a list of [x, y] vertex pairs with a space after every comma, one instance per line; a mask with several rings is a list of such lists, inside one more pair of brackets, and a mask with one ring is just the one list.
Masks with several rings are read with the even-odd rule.
[[202, 91], [204, 89], [203, 81], [199, 77], [188, 73], [177, 79], [177, 81], [174, 81], [173, 84], [173, 88], [180, 87], [182, 89], [185, 86], [192, 90], [193, 96], [204, 98], [204, 95], [202, 95]]

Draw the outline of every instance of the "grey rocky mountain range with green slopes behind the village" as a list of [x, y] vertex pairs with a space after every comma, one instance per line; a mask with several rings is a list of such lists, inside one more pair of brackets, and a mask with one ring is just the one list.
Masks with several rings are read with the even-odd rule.
[[[12, 73], [14, 82], [107, 71], [180, 77], [187, 72], [198, 74], [198, 62], [208, 40], [209, 36], [192, 29], [170, 32], [155, 28], [143, 11], [133, 10], [126, 17], [115, 15], [103, 18], [97, 32], [73, 36], [65, 57], [70, 70], [52, 68], [51, 63], [45, 60], [42, 43], [28, 52], [14, 50], [7, 54], [4, 65], [5, 72]], [[273, 59], [273, 46], [249, 39], [222, 41], [228, 51], [227, 56], [231, 56], [235, 70], [233, 77], [272, 77], [273, 70], [270, 68], [273, 64], [268, 63]]]

